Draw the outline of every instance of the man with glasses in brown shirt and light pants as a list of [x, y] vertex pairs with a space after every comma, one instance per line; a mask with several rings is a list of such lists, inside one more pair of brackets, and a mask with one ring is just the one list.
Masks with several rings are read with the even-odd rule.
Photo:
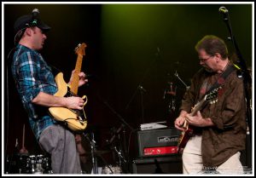
[[242, 174], [240, 152], [245, 149], [246, 106], [242, 78], [236, 70], [230, 72], [218, 89], [215, 102], [207, 103], [191, 114], [191, 108], [201, 100], [222, 73], [232, 66], [224, 41], [206, 36], [196, 45], [201, 66], [195, 73], [182, 100], [175, 127], [185, 131], [186, 121], [194, 128], [183, 149], [183, 174], [201, 174], [214, 170], [220, 174]]

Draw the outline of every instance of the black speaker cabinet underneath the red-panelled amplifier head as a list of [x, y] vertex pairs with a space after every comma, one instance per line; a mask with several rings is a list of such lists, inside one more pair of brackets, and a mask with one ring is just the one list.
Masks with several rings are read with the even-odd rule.
[[133, 174], [183, 174], [180, 154], [166, 157], [137, 158], [132, 163]]

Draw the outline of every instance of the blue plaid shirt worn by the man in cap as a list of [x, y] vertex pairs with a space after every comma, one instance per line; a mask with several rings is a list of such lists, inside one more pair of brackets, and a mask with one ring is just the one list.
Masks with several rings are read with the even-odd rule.
[[35, 105], [32, 100], [39, 92], [55, 94], [57, 86], [54, 75], [42, 55], [20, 44], [13, 57], [12, 73], [32, 131], [39, 139], [42, 131], [55, 123], [55, 120], [49, 115], [48, 107]]

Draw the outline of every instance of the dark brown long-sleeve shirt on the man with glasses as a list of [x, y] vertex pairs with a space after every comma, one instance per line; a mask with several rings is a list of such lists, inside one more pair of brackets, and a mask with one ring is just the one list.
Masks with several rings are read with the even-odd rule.
[[[205, 70], [195, 73], [180, 109], [190, 112], [191, 107], [200, 100], [201, 92], [215, 83], [218, 77], [219, 74]], [[230, 73], [222, 89], [218, 90], [217, 103], [205, 106], [201, 115], [203, 118], [211, 118], [215, 124], [212, 127], [197, 128], [202, 134], [201, 155], [205, 167], [223, 164], [236, 152], [245, 149], [245, 95], [242, 78], [237, 77], [236, 70]]]

